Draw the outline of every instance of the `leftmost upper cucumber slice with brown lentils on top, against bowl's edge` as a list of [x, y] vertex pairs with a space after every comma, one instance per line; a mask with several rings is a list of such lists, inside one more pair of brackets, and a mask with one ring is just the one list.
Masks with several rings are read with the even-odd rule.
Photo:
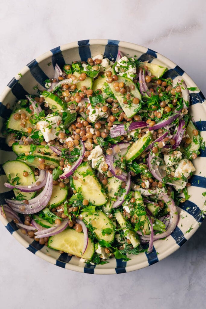
[[14, 115], [15, 114], [25, 114], [28, 118], [30, 118], [32, 116], [32, 114], [30, 114], [29, 112], [26, 111], [25, 108], [19, 108], [16, 109], [11, 116], [9, 117], [7, 123], [6, 123], [6, 127], [8, 129], [12, 129], [12, 130], [16, 130], [16, 131], [22, 131], [22, 132], [27, 132], [27, 128], [29, 127], [33, 127], [31, 122], [29, 121], [29, 119], [25, 119], [25, 128], [23, 128], [20, 124], [21, 124], [21, 119], [19, 120], [15, 120], [14, 119]]

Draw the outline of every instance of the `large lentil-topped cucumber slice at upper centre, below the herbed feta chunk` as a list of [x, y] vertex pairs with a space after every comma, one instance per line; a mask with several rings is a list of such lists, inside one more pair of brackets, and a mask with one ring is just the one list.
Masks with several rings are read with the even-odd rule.
[[[125, 86], [131, 86], [133, 85], [134, 90], [131, 90], [131, 96], [134, 98], [138, 98], [139, 100], [141, 100], [141, 93], [139, 92], [139, 90], [137, 89], [137, 85], [135, 83], [132, 82], [131, 79], [126, 78], [126, 77], [122, 77], [122, 76], [118, 76], [118, 83], [123, 82]], [[124, 99], [126, 98], [126, 94], [122, 95], [119, 91], [116, 91], [114, 88], [114, 82], [112, 83], [108, 83], [109, 87], [111, 88], [111, 91], [113, 92], [113, 94], [115, 95], [116, 99], [118, 100], [121, 108], [123, 109], [123, 111], [125, 112], [126, 116], [128, 118], [133, 117], [134, 115], [137, 114], [137, 112], [135, 111], [137, 109], [137, 104], [134, 103], [129, 103], [129, 104], [124, 104]]]

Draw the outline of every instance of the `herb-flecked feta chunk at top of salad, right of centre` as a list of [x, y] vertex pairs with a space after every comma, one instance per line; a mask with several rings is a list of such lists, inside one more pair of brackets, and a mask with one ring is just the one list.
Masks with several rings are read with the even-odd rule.
[[128, 59], [128, 57], [124, 56], [117, 61], [115, 70], [116, 72], [119, 72], [120, 75], [127, 74], [129, 78], [133, 78], [131, 75], [136, 74], [137, 67], [133, 58]]

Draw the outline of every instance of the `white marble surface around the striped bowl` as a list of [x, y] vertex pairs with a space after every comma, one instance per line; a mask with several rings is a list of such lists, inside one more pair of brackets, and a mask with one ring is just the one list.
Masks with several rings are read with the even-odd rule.
[[[47, 50], [82, 39], [116, 39], [162, 53], [204, 80], [204, 0], [2, 1], [0, 92]], [[88, 275], [51, 265], [23, 248], [0, 224], [0, 307], [205, 308], [206, 222], [177, 252], [121, 275]]]

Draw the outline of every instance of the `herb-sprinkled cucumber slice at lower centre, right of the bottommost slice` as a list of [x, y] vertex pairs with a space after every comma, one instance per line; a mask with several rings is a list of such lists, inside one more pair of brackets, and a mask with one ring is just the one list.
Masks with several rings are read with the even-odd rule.
[[112, 243], [114, 241], [115, 227], [112, 221], [101, 210], [98, 210], [93, 214], [82, 212], [81, 215], [83, 217], [83, 221], [90, 223], [95, 228], [94, 233], [97, 236], [97, 239], [106, 240], [108, 243]]

